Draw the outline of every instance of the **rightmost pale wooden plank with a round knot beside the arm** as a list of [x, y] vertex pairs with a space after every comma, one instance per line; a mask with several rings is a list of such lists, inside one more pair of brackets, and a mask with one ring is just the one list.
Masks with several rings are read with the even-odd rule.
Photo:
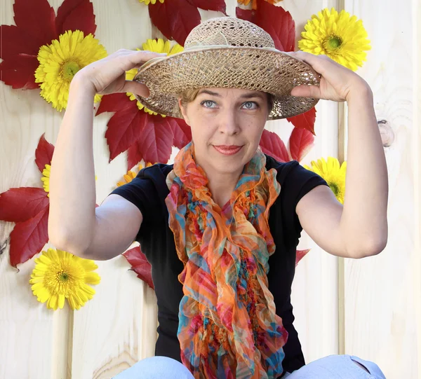
[[385, 148], [389, 240], [378, 256], [345, 261], [345, 347], [347, 354], [375, 361], [387, 378], [420, 378], [419, 245], [415, 249], [420, 209], [413, 206], [420, 196], [415, 186], [420, 139], [413, 123], [413, 97], [420, 88], [411, 76], [413, 46], [420, 44], [414, 30], [419, 33], [419, 26], [413, 29], [409, 0], [373, 6], [368, 1], [345, 1], [345, 9], [363, 20], [373, 46], [357, 72], [373, 89], [377, 120], [387, 120], [396, 135], [392, 146]]

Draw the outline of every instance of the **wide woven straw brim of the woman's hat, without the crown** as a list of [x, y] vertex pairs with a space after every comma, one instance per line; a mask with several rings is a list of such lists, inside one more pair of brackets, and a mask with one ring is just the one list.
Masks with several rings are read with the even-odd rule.
[[189, 88], [243, 88], [274, 96], [268, 120], [289, 118], [312, 109], [319, 99], [291, 96], [297, 85], [319, 85], [309, 64], [274, 48], [210, 47], [156, 57], [138, 69], [133, 81], [149, 88], [135, 95], [151, 111], [180, 118], [178, 97]]

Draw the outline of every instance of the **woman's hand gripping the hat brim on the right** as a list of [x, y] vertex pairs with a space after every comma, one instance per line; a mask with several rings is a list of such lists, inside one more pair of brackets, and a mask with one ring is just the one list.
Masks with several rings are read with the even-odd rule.
[[290, 92], [293, 96], [345, 102], [352, 93], [370, 88], [361, 76], [330, 59], [327, 55], [314, 55], [304, 51], [288, 51], [287, 53], [306, 62], [313, 67], [314, 71], [321, 74], [320, 86], [298, 85]]

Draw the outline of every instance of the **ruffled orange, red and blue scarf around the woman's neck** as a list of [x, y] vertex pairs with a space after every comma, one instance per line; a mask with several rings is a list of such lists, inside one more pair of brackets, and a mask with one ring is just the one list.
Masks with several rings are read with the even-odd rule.
[[195, 379], [272, 379], [283, 372], [288, 332], [267, 282], [275, 251], [269, 208], [281, 186], [265, 164], [259, 150], [222, 209], [194, 162], [192, 143], [167, 177], [169, 226], [184, 263], [178, 340]]

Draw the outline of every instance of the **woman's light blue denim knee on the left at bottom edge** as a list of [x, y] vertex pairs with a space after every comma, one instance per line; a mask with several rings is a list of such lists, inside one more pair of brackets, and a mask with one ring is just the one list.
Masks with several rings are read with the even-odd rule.
[[149, 357], [138, 361], [114, 379], [194, 379], [179, 361], [169, 357]]

